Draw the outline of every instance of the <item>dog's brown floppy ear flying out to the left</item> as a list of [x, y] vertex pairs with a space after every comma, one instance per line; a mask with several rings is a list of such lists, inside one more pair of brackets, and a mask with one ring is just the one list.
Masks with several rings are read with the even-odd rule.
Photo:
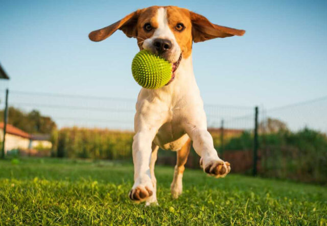
[[88, 37], [92, 41], [99, 42], [106, 38], [108, 38], [110, 35], [112, 35], [115, 31], [122, 30], [125, 35], [129, 38], [137, 36], [137, 19], [139, 15], [139, 10], [132, 12], [131, 14], [128, 14], [123, 19], [112, 23], [108, 27], [92, 31]]

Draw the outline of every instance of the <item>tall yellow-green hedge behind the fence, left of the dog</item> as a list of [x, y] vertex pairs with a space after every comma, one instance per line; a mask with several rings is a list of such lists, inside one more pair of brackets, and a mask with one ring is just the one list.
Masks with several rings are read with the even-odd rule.
[[74, 127], [54, 131], [52, 142], [57, 157], [124, 159], [132, 155], [133, 133]]

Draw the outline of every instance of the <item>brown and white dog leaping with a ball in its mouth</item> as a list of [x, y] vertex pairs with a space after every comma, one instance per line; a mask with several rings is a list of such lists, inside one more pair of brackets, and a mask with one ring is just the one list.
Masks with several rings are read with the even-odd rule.
[[219, 26], [188, 9], [152, 6], [139, 9], [108, 27], [92, 31], [89, 39], [102, 41], [121, 30], [136, 38], [140, 50], [172, 63], [172, 77], [158, 89], [142, 88], [137, 97], [133, 137], [134, 185], [128, 196], [157, 205], [154, 165], [158, 148], [177, 152], [171, 193], [182, 193], [184, 165], [193, 142], [200, 166], [209, 175], [225, 177], [230, 164], [218, 157], [207, 131], [206, 115], [192, 66], [192, 44], [213, 38], [242, 36], [245, 31]]

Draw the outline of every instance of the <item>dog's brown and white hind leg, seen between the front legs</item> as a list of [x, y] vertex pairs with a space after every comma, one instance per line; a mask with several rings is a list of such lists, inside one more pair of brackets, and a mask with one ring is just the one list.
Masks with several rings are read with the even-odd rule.
[[191, 144], [192, 141], [191, 139], [189, 139], [188, 141], [185, 142], [182, 148], [177, 151], [177, 163], [175, 166], [173, 182], [170, 186], [173, 198], [178, 198], [178, 196], [182, 193], [183, 190], [182, 179], [183, 179], [183, 172], [185, 169], [184, 165], [188, 160]]

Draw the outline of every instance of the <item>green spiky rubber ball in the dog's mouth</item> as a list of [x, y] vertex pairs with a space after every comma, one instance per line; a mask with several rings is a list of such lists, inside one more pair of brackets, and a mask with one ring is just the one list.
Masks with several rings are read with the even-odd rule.
[[132, 74], [138, 85], [157, 89], [171, 80], [172, 64], [147, 50], [142, 50], [133, 59]]

